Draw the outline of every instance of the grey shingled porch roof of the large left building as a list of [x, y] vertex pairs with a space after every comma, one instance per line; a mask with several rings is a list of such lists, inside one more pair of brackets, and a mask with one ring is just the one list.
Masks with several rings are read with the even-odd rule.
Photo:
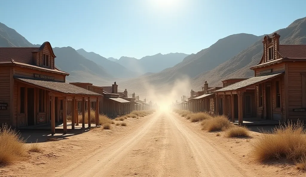
[[42, 81], [42, 80], [35, 80], [35, 79], [26, 79], [21, 77], [14, 77], [18, 81], [25, 82], [30, 85], [39, 86], [43, 88], [47, 88], [49, 90], [53, 90], [55, 92], [61, 92], [66, 94], [73, 94], [73, 95], [91, 95], [91, 96], [102, 96], [98, 93], [91, 92], [87, 89], [68, 84], [65, 82], [55, 82], [55, 81]]

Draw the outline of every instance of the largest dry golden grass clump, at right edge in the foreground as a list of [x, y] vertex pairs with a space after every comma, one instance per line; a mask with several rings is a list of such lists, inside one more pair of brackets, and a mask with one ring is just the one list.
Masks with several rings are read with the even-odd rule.
[[302, 122], [288, 122], [280, 125], [272, 133], [263, 132], [254, 143], [252, 156], [255, 160], [263, 162], [270, 159], [296, 161], [298, 166], [306, 162], [306, 136]]

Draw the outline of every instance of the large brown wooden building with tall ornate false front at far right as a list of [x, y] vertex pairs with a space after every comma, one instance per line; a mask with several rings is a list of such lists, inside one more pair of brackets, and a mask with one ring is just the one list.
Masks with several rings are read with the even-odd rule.
[[224, 85], [216, 91], [218, 114], [239, 124], [256, 117], [280, 122], [306, 120], [306, 45], [280, 45], [280, 35], [265, 36], [255, 77]]

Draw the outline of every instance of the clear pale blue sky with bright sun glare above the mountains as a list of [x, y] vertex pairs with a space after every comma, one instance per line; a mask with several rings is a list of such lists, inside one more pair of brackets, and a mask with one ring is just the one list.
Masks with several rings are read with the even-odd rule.
[[231, 34], [272, 33], [305, 9], [303, 0], [6, 0], [0, 22], [33, 44], [141, 58], [196, 53]]

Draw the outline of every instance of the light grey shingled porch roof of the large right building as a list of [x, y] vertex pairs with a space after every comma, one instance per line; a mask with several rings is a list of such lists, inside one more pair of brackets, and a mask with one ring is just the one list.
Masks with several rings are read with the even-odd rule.
[[273, 77], [279, 76], [281, 74], [283, 74], [283, 73], [271, 74], [271, 75], [267, 75], [267, 76], [251, 77], [251, 78], [249, 78], [247, 80], [240, 81], [240, 82], [237, 82], [235, 84], [229, 85], [229, 86], [221, 88], [219, 90], [216, 90], [216, 92], [225, 92], [225, 91], [239, 90], [239, 89], [242, 89], [242, 88], [254, 85], [254, 84], [256, 84], [258, 82], [261, 82], [261, 81], [270, 80]]

